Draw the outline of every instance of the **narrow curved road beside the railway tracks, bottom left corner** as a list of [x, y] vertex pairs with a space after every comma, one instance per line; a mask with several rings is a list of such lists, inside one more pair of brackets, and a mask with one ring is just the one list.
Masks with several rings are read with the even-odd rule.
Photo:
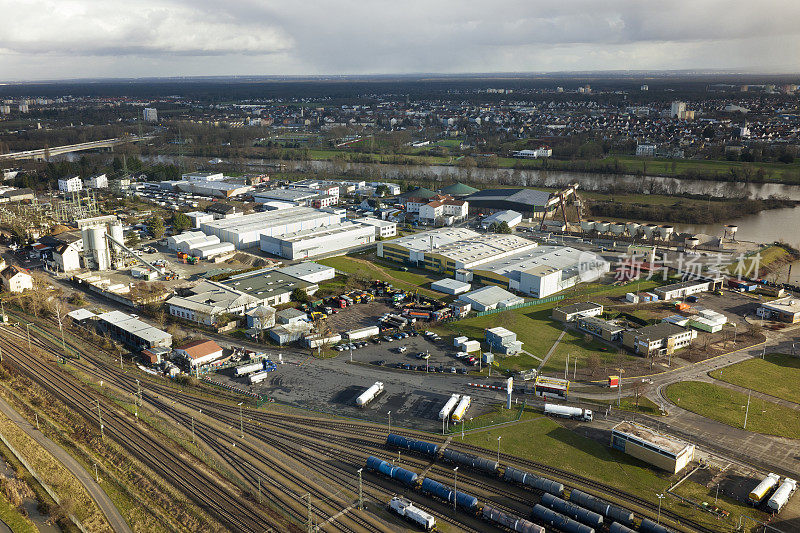
[[86, 487], [89, 495], [97, 503], [98, 507], [106, 515], [108, 523], [116, 533], [133, 533], [128, 523], [122, 518], [119, 510], [111, 502], [111, 499], [103, 491], [100, 485], [94, 480], [91, 474], [87, 472], [78, 461], [75, 460], [70, 454], [64, 451], [63, 448], [58, 446], [55, 442], [51, 441], [44, 434], [33, 427], [30, 422], [25, 420], [11, 405], [4, 399], [0, 398], [0, 411], [11, 419], [22, 431], [29, 437], [35, 440], [42, 448], [50, 452], [64, 468], [72, 472], [78, 481]]

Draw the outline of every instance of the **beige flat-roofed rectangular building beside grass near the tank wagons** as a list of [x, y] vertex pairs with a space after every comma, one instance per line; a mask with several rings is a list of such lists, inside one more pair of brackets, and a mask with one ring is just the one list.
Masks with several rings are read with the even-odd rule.
[[611, 447], [673, 474], [694, 459], [694, 444], [633, 422], [620, 422], [611, 429]]

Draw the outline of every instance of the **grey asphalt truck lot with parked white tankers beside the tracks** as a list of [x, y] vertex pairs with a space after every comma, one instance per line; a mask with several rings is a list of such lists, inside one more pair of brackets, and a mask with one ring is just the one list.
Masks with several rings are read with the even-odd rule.
[[[405, 346], [404, 353], [397, 348]], [[424, 365], [416, 359], [416, 353], [430, 354], [429, 372], [395, 368], [397, 363]], [[315, 359], [297, 353], [282, 353], [285, 364], [278, 365], [270, 377], [252, 387], [246, 378], [233, 376], [233, 369], [214, 374], [214, 379], [229, 385], [266, 395], [280, 403], [302, 409], [346, 416], [388, 424], [391, 411], [392, 425], [441, 431], [442, 421], [438, 414], [451, 394], [466, 394], [472, 398], [467, 420], [491, 412], [505, 403], [501, 391], [480, 389], [470, 382], [500, 385], [501, 377], [486, 379], [475, 375], [451, 373], [450, 369], [467, 366], [456, 359], [454, 348], [444, 341], [431, 342], [423, 336], [409, 337], [400, 341], [381, 344], [368, 343], [364, 348], [337, 353], [328, 359]], [[270, 351], [273, 360], [277, 353]], [[383, 365], [373, 364], [385, 361]], [[443, 367], [446, 372], [433, 368]], [[475, 367], [477, 369], [477, 367]], [[364, 408], [355, 405], [355, 399], [376, 381], [384, 384], [384, 391]], [[522, 396], [519, 396], [520, 401]]]

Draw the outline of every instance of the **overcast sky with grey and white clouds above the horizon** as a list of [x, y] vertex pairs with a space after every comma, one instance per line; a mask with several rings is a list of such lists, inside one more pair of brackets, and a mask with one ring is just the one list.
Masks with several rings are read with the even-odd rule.
[[800, 72], [798, 0], [0, 0], [0, 79]]

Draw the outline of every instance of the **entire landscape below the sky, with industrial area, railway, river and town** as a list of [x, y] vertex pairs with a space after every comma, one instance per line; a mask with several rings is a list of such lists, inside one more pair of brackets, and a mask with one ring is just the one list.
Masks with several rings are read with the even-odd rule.
[[9, 530], [800, 530], [797, 80], [0, 101]]

